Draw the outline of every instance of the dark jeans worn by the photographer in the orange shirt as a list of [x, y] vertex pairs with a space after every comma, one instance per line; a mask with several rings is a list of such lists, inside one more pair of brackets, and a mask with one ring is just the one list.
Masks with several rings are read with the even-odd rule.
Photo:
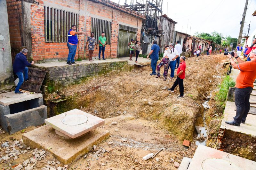
[[250, 110], [250, 94], [252, 93], [252, 87], [246, 87], [243, 89], [236, 88], [235, 90], [235, 103], [236, 103], [236, 116], [234, 120], [237, 123], [245, 122], [245, 119]]

